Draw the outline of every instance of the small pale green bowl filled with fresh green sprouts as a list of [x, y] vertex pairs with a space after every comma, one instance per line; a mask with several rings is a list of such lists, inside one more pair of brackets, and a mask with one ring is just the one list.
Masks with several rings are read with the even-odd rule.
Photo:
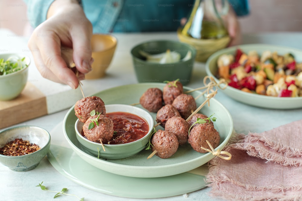
[[21, 54], [0, 54], [0, 100], [11, 100], [24, 89], [30, 58]]

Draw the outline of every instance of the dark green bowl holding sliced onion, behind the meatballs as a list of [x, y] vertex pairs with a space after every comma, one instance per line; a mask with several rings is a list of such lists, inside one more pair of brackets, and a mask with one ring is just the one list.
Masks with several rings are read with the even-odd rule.
[[[151, 63], [139, 53], [140, 50], [149, 54], [159, 54], [167, 49], [181, 54], [181, 59], [185, 57], [188, 51], [192, 52], [192, 57], [186, 61], [177, 63]], [[132, 48], [131, 55], [133, 66], [138, 82], [164, 82], [179, 79], [183, 85], [188, 84], [191, 79], [196, 49], [192, 45], [178, 41], [159, 40], [149, 41]]]

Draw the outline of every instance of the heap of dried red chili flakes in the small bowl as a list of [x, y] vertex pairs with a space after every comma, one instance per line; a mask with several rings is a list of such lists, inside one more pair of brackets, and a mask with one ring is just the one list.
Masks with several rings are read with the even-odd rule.
[[1, 147], [0, 154], [5, 156], [23, 156], [39, 149], [41, 148], [37, 144], [30, 143], [28, 140], [22, 140], [22, 138], [16, 138], [5, 144], [4, 147]]

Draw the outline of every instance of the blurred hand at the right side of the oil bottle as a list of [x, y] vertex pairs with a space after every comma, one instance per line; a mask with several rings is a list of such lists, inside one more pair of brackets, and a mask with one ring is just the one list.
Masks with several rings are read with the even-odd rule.
[[229, 46], [239, 45], [241, 44], [242, 36], [240, 25], [238, 23], [237, 15], [232, 7], [230, 7], [228, 14], [225, 18], [226, 26], [231, 37], [231, 41]]

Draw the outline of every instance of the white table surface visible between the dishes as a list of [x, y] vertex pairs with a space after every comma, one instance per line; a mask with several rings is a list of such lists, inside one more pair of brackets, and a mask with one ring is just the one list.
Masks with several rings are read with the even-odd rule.
[[[119, 85], [137, 83], [130, 56], [130, 49], [134, 45], [153, 39], [177, 40], [176, 33], [114, 35], [117, 37], [118, 45], [107, 75], [99, 80], [83, 81], [83, 85], [85, 86], [84, 92], [86, 95]], [[0, 29], [0, 36], [0, 51], [28, 51], [26, 45], [27, 38], [15, 35], [7, 29]], [[283, 32], [246, 34], [243, 36], [243, 43], [267, 43], [300, 48], [302, 47], [302, 33]], [[204, 76], [206, 76], [204, 63], [196, 62], [194, 64], [192, 79], [187, 86], [197, 88], [203, 85], [202, 80]], [[282, 124], [302, 119], [302, 109], [271, 110], [252, 107], [236, 102], [221, 92], [218, 92], [215, 98], [230, 111], [233, 117], [234, 129], [238, 133], [248, 134], [249, 131], [262, 132], [278, 127]], [[32, 119], [18, 125], [37, 125], [51, 132], [56, 125], [63, 121], [66, 112], [67, 110], [63, 110], [61, 112]], [[0, 200], [77, 200], [76, 198], [70, 196], [60, 196], [56, 199], [53, 199], [54, 193], [46, 192], [38, 187], [35, 187], [41, 181], [44, 181], [44, 184], [50, 190], [61, 190], [63, 187], [66, 187], [69, 189], [68, 193], [76, 194], [79, 197], [85, 197], [85, 200], [141, 200], [111, 196], [82, 187], [61, 175], [56, 169], [53, 168], [47, 157], [40, 162], [36, 169], [29, 172], [13, 172], [6, 166], [0, 164]], [[144, 200], [220, 200], [208, 196], [207, 193], [209, 190], [210, 188], [206, 187], [194, 192], [188, 192], [188, 197], [179, 195]]]

